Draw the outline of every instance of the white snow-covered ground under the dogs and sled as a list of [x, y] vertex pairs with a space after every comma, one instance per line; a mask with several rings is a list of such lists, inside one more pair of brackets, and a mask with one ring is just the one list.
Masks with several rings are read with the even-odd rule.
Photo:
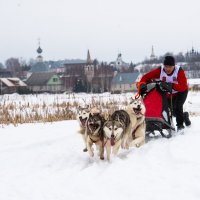
[[74, 120], [0, 128], [0, 200], [199, 200], [200, 93], [192, 126], [171, 139], [120, 150], [111, 162], [84, 153]]

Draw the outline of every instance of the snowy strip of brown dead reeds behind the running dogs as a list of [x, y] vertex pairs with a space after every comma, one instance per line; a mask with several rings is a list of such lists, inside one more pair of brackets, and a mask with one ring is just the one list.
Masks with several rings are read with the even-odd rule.
[[0, 96], [0, 124], [54, 122], [76, 119], [80, 105], [97, 107], [107, 118], [127, 104], [126, 95], [45, 94]]

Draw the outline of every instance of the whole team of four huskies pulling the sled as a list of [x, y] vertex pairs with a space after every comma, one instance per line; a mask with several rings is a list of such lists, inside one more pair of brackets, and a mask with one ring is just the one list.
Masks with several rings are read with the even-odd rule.
[[84, 152], [94, 156], [93, 144], [98, 149], [100, 159], [107, 160], [111, 152], [116, 155], [121, 148], [140, 147], [145, 143], [145, 106], [142, 98], [131, 99], [125, 110], [116, 110], [105, 119], [97, 108], [81, 108], [77, 120], [85, 144]]

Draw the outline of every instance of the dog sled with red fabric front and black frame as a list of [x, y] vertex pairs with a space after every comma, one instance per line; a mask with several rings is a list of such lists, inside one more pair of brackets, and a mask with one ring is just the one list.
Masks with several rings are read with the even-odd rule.
[[[155, 131], [158, 131], [162, 137], [170, 138], [172, 131], [175, 131], [172, 121], [172, 88], [166, 87], [166, 84], [163, 83], [162, 81], [153, 81], [147, 84], [145, 89], [141, 88], [143, 83], [140, 83], [135, 98], [139, 98], [141, 95], [146, 107], [146, 135], [153, 134], [155, 136]], [[140, 93], [141, 89], [142, 93]], [[169, 93], [170, 101], [167, 99], [166, 93]]]

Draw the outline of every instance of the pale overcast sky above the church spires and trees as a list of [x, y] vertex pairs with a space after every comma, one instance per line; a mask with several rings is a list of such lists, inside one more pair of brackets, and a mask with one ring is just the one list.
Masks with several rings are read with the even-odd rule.
[[200, 50], [199, 0], [0, 0], [0, 62], [44, 60], [126, 62], [155, 54]]

